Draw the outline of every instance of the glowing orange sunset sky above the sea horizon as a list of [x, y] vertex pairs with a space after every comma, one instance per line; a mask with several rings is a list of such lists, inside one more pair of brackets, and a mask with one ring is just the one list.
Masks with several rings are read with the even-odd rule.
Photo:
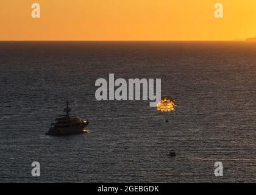
[[0, 22], [0, 40], [233, 40], [256, 36], [256, 0], [0, 0]]

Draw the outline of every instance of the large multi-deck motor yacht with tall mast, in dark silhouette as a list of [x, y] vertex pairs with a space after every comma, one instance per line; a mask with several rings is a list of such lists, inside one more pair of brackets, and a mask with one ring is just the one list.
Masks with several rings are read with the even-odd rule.
[[49, 128], [49, 131], [45, 133], [46, 135], [88, 132], [85, 127], [89, 124], [89, 121], [80, 117], [69, 116], [71, 108], [68, 107], [68, 104], [69, 102], [66, 102], [66, 108], [63, 110], [66, 115], [59, 115], [61, 118], [55, 119], [55, 122], [51, 124], [53, 127]]

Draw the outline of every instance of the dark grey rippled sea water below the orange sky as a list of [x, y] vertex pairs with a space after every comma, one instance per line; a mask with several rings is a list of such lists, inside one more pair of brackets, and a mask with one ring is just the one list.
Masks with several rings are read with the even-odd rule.
[[[160, 78], [179, 107], [96, 101], [109, 73]], [[0, 182], [256, 182], [256, 43], [0, 42], [0, 80]], [[90, 133], [44, 135], [66, 100]]]

